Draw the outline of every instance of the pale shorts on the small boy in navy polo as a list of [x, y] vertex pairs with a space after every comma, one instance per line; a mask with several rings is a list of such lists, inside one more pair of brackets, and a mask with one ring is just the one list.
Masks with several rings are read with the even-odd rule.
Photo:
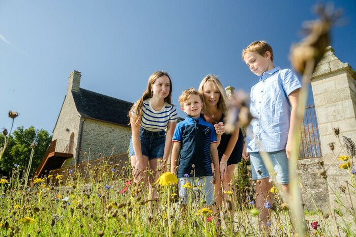
[[[193, 186], [192, 189], [183, 188], [186, 183], [190, 183]], [[181, 177], [178, 182], [179, 196], [183, 203], [187, 204], [187, 201], [192, 201], [192, 198], [198, 196], [206, 201], [207, 205], [214, 203], [214, 186], [213, 176], [200, 176], [200, 177]], [[196, 196], [196, 194], [198, 194]]]

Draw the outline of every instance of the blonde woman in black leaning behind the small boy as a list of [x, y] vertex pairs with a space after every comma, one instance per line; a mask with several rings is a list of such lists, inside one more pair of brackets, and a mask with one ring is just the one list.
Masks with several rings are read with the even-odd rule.
[[[223, 119], [227, 112], [227, 96], [220, 80], [214, 75], [205, 76], [199, 85], [199, 92], [203, 95], [204, 110], [203, 119], [215, 127], [216, 134], [220, 136], [218, 146], [219, 167], [221, 182], [215, 183], [214, 198], [217, 206], [221, 206], [222, 199], [227, 200], [228, 194], [224, 191], [230, 191], [230, 182], [233, 178], [236, 164], [241, 161], [244, 146], [244, 136], [240, 128], [237, 128], [232, 134], [226, 134], [223, 126]], [[233, 210], [235, 204], [231, 200]]]

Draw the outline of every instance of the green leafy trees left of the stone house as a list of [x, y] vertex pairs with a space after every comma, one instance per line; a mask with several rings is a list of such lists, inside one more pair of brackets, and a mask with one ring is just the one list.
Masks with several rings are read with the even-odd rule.
[[[36, 130], [33, 126], [28, 129], [24, 129], [23, 126], [18, 127], [12, 134], [8, 135], [7, 149], [0, 162], [0, 177], [9, 176], [15, 164], [19, 165], [20, 169], [26, 169], [31, 156], [30, 146], [33, 142], [36, 142], [30, 174], [34, 173], [51, 140], [52, 136], [46, 130]], [[4, 145], [4, 142], [4, 136], [0, 136], [0, 147]]]

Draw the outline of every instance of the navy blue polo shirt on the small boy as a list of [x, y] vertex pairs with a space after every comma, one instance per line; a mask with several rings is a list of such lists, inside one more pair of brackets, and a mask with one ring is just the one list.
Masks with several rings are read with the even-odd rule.
[[175, 127], [172, 141], [181, 142], [178, 177], [186, 173], [192, 177], [192, 170], [197, 177], [213, 175], [210, 144], [218, 141], [213, 125], [200, 117], [187, 116]]

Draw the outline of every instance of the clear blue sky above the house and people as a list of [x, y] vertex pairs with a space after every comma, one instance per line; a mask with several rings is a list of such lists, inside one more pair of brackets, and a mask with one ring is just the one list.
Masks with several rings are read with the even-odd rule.
[[[241, 50], [266, 40], [275, 65], [290, 67], [290, 45], [301, 40], [302, 22], [316, 18], [315, 3], [0, 0], [0, 128], [10, 128], [7, 113], [15, 110], [15, 127], [51, 133], [73, 70], [82, 88], [131, 102], [157, 70], [170, 74], [175, 105], [210, 73], [249, 92], [258, 78]], [[345, 24], [333, 29], [332, 46], [356, 68], [356, 1], [335, 6], [344, 9]]]

